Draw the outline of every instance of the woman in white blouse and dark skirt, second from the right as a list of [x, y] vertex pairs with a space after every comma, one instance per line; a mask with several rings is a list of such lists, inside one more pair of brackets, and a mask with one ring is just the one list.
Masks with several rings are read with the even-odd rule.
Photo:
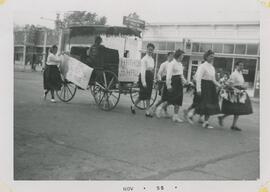
[[205, 62], [198, 67], [196, 74], [197, 94], [200, 96], [200, 103], [196, 107], [196, 113], [204, 115], [204, 128], [214, 128], [208, 122], [211, 115], [219, 114], [218, 94], [216, 87], [220, 84], [216, 81], [215, 68], [213, 66], [214, 52], [208, 50], [204, 54]]

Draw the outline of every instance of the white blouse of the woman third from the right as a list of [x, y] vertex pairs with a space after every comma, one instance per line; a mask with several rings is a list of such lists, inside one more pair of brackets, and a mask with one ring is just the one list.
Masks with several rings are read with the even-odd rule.
[[173, 59], [167, 67], [166, 85], [170, 89], [172, 87], [172, 76], [180, 75], [182, 78], [182, 83], [185, 84], [186, 79], [184, 78], [183, 65], [181, 62]]

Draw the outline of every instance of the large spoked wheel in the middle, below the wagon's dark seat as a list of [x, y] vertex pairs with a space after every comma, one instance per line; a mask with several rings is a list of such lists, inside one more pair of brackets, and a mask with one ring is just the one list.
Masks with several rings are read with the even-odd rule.
[[99, 108], [105, 111], [114, 109], [120, 99], [117, 76], [111, 71], [98, 72], [91, 92]]

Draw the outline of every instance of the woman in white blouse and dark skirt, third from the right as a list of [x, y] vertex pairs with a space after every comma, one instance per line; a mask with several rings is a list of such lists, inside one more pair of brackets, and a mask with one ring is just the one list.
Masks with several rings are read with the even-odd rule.
[[183, 74], [182, 60], [184, 58], [184, 51], [178, 49], [175, 51], [174, 60], [168, 65], [166, 85], [168, 89], [167, 102], [168, 105], [174, 105], [174, 115], [172, 120], [174, 122], [183, 122], [179, 118], [178, 112], [183, 102], [183, 85], [186, 83]]

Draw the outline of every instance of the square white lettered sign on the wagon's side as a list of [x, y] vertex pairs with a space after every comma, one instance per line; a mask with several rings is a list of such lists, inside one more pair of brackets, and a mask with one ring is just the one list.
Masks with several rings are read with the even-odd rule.
[[136, 82], [141, 69], [138, 59], [120, 58], [118, 80], [120, 82]]

